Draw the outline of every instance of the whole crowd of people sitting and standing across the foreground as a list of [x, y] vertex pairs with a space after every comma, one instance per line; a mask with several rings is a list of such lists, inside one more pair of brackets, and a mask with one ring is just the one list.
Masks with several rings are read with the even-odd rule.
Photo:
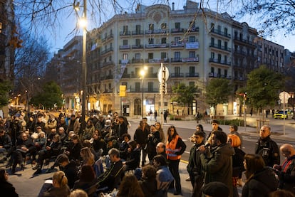
[[[0, 124], [0, 162], [6, 162], [11, 174], [18, 164], [24, 170], [27, 162], [35, 174], [51, 161], [48, 170], [59, 168], [38, 196], [167, 196], [169, 189], [182, 195], [179, 164], [187, 146], [175, 126], [165, 134], [160, 122], [149, 125], [143, 118], [131, 137], [130, 122], [116, 112], [90, 115], [87, 121], [79, 113], [28, 117], [18, 112]], [[270, 134], [264, 125], [255, 152], [245, 153], [237, 125], [230, 125], [226, 134], [213, 120], [207, 136], [197, 124], [187, 164], [192, 196], [237, 197], [238, 186], [243, 197], [275, 196], [278, 191], [295, 195], [295, 149], [291, 144], [279, 148]], [[283, 164], [280, 155], [286, 158]], [[0, 169], [0, 188], [18, 196], [6, 169]]]

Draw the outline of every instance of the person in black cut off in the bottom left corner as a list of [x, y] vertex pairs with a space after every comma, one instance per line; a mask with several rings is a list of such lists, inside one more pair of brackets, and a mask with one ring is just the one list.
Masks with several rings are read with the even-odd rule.
[[9, 174], [5, 169], [0, 169], [0, 191], [1, 196], [19, 197], [16, 193], [16, 188], [8, 182]]

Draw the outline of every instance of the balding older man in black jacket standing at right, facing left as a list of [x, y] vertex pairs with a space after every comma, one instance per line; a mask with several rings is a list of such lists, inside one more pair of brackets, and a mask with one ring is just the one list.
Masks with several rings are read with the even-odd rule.
[[259, 132], [259, 139], [256, 143], [255, 154], [260, 154], [266, 166], [272, 168], [274, 164], [279, 165], [280, 156], [279, 147], [276, 142], [270, 138], [270, 135], [271, 128], [268, 125], [262, 126]]

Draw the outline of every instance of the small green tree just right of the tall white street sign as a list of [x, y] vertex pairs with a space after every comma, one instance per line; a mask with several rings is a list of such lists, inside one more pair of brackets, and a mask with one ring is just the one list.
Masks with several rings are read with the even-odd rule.
[[200, 92], [197, 86], [195, 85], [185, 85], [180, 83], [172, 87], [172, 92], [175, 94], [175, 97], [172, 97], [172, 101], [176, 101], [183, 106], [187, 107], [187, 115], [190, 114], [189, 106], [192, 106], [192, 100], [197, 95], [197, 92]]

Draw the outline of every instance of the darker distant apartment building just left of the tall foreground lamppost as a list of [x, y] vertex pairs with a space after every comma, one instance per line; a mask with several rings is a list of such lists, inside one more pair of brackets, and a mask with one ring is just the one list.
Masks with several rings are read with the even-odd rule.
[[54, 54], [47, 65], [46, 78], [54, 80], [63, 91], [64, 108], [81, 111], [82, 36], [75, 36]]

